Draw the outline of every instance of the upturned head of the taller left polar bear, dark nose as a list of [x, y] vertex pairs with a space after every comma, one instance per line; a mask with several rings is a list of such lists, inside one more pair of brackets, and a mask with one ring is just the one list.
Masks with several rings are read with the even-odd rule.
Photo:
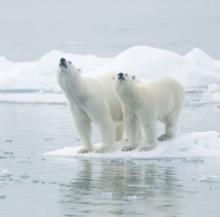
[[81, 73], [80, 69], [77, 69], [71, 61], [61, 58], [59, 62], [58, 73], [64, 75], [78, 75]]

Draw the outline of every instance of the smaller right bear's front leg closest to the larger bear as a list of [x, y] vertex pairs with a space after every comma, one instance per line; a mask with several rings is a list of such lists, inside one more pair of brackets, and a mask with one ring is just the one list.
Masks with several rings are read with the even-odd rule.
[[125, 145], [122, 151], [131, 151], [137, 147], [137, 129], [139, 128], [136, 114], [133, 112], [125, 112], [124, 122], [128, 145]]

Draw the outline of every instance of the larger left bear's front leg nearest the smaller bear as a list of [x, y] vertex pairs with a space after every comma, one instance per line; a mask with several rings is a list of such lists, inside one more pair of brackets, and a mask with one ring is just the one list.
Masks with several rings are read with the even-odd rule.
[[97, 121], [98, 128], [101, 132], [102, 147], [96, 150], [97, 153], [108, 152], [115, 140], [114, 125], [110, 115], [106, 115], [101, 120]]

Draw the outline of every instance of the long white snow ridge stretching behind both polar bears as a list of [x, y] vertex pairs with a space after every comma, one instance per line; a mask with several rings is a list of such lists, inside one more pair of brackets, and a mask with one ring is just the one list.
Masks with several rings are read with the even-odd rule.
[[[145, 81], [172, 76], [186, 89], [205, 87], [207, 91], [203, 100], [219, 102], [219, 90], [213, 91], [210, 87], [213, 84], [220, 85], [220, 61], [212, 59], [197, 48], [186, 55], [180, 55], [149, 46], [132, 47], [111, 58], [77, 55], [57, 50], [32, 62], [11, 62], [5, 57], [0, 57], [0, 93], [3, 92], [0, 94], [0, 102], [20, 100], [24, 103], [29, 101], [43, 103], [48, 101], [43, 93], [48, 92], [51, 93], [50, 102], [60, 103], [60, 100], [65, 102], [64, 98], [61, 99], [57, 95], [61, 93], [56, 81], [56, 69], [61, 57], [70, 59], [82, 69], [83, 75], [89, 77], [96, 77], [108, 71], [115, 73], [126, 71]], [[30, 97], [26, 92], [35, 93]]]

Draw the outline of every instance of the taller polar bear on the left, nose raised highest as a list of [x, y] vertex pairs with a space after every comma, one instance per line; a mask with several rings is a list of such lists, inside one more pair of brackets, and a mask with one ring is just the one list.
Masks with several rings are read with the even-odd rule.
[[70, 61], [60, 59], [58, 82], [70, 104], [83, 146], [81, 153], [92, 151], [91, 121], [101, 131], [102, 147], [98, 152], [108, 151], [114, 140], [122, 139], [121, 106], [112, 90], [112, 81], [111, 74], [97, 80], [84, 78]]

